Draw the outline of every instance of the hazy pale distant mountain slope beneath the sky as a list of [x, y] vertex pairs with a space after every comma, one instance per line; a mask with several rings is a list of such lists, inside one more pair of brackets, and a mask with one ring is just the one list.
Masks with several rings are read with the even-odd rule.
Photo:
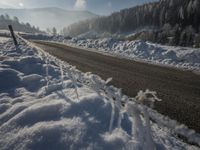
[[41, 29], [47, 27], [61, 29], [74, 22], [96, 17], [88, 11], [67, 11], [60, 8], [0, 9], [0, 14], [17, 16], [20, 21], [29, 22]]

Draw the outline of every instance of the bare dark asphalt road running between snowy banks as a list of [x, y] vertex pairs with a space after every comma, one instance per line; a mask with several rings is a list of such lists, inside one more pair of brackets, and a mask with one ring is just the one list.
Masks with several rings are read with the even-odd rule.
[[162, 99], [155, 105], [158, 112], [200, 133], [200, 75], [106, 56], [64, 44], [42, 41], [34, 43], [83, 72], [92, 72], [103, 79], [112, 77], [111, 84], [122, 88], [128, 96], [134, 97], [139, 90], [156, 91]]

